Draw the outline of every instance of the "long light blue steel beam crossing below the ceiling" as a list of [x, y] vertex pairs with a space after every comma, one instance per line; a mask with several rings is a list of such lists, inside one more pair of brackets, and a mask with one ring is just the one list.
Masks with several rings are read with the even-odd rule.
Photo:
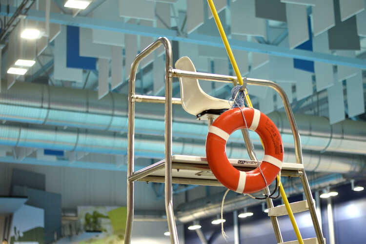
[[[12, 16], [15, 12], [15, 7], [10, 7], [9, 14], [6, 13], [5, 9], [1, 9], [0, 15]], [[39, 10], [29, 10], [27, 19], [45, 21], [45, 12]], [[195, 44], [202, 44], [215, 47], [223, 47], [223, 42], [220, 38], [190, 34], [187, 37], [179, 36], [175, 30], [153, 28], [137, 24], [123, 23], [120, 21], [111, 20], [100, 20], [90, 17], [76, 16], [72, 17], [67, 14], [51, 13], [50, 22], [64, 25], [79, 26], [84, 28], [109, 30], [115, 32], [122, 32], [133, 35], [148, 36], [153, 38], [166, 37], [172, 41], [184, 41]], [[336, 65], [352, 66], [361, 69], [366, 69], [366, 61], [354, 58], [347, 58], [341, 56], [335, 56], [331, 54], [314, 53], [311, 51], [293, 49], [290, 50], [285, 47], [278, 47], [274, 45], [261, 44], [248, 41], [230, 40], [231, 48], [234, 50], [245, 50], [250, 52], [267, 53], [269, 55], [281, 56], [294, 59], [302, 59], [308, 61], [318, 61], [325, 63], [332, 63]]]

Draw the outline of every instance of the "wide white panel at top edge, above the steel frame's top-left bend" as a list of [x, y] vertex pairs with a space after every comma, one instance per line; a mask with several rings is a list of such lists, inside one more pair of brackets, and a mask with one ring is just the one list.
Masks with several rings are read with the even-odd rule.
[[155, 3], [147, 0], [120, 0], [120, 16], [155, 20]]

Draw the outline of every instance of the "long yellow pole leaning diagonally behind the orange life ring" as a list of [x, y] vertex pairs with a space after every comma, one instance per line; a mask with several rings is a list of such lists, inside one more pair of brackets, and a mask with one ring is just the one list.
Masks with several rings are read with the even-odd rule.
[[[236, 61], [235, 61], [233, 52], [231, 51], [229, 41], [227, 41], [227, 37], [226, 37], [225, 31], [224, 31], [223, 25], [222, 25], [222, 23], [220, 21], [219, 15], [217, 14], [215, 5], [214, 5], [214, 3], [213, 3], [212, 0], [207, 0], [207, 1], [208, 1], [208, 5], [210, 6], [212, 15], [213, 15], [213, 17], [215, 19], [217, 28], [219, 29], [221, 39], [224, 42], [224, 46], [225, 46], [227, 55], [229, 56], [229, 59], [230, 59], [231, 65], [233, 66], [233, 69], [235, 71], [236, 77], [238, 78], [239, 84], [240, 85], [243, 85], [242, 75], [240, 74], [238, 65], [236, 64]], [[253, 107], [252, 102], [250, 101], [250, 98], [249, 98], [248, 91], [247, 91], [246, 88], [244, 90], [244, 93], [245, 93], [245, 102], [246, 102], [246, 104], [248, 105], [248, 107]], [[262, 143], [262, 145], [263, 145], [263, 143]], [[284, 200], [285, 207], [286, 207], [286, 210], [287, 210], [287, 214], [288, 214], [288, 216], [290, 218], [292, 227], [294, 228], [294, 231], [295, 231], [297, 240], [299, 241], [299, 244], [304, 244], [303, 238], [301, 237], [301, 233], [300, 233], [299, 227], [296, 224], [296, 220], [295, 220], [294, 214], [292, 213], [292, 210], [291, 210], [291, 207], [290, 207], [290, 203], [288, 203], [284, 186], [282, 185], [281, 179], [280, 179], [279, 176], [277, 176], [277, 179], [278, 179], [279, 184], [280, 184], [280, 186], [279, 186], [279, 188], [280, 188], [280, 194], [281, 194], [282, 199]]]

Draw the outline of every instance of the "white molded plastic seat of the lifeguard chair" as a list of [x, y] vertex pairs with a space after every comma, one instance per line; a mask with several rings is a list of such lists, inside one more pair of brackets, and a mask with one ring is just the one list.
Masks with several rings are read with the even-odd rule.
[[[175, 67], [180, 70], [196, 72], [192, 61], [186, 56], [177, 60]], [[182, 106], [189, 114], [197, 116], [205, 110], [230, 108], [227, 100], [218, 99], [205, 93], [198, 79], [180, 77], [179, 83], [181, 85]]]

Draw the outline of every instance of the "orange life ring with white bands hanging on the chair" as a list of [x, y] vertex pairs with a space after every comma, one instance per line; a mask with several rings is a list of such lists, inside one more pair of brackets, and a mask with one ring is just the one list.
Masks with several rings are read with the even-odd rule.
[[[239, 193], [253, 193], [266, 185], [257, 167], [244, 172], [234, 168], [227, 160], [226, 141], [235, 130], [246, 128], [257, 132], [264, 143], [264, 157], [261, 164], [268, 184], [272, 183], [281, 170], [284, 147], [276, 125], [262, 112], [254, 108], [232, 108], [225, 111], [209, 127], [206, 138], [206, 157], [215, 177], [230, 190]], [[243, 149], [244, 150], [244, 149]]]

